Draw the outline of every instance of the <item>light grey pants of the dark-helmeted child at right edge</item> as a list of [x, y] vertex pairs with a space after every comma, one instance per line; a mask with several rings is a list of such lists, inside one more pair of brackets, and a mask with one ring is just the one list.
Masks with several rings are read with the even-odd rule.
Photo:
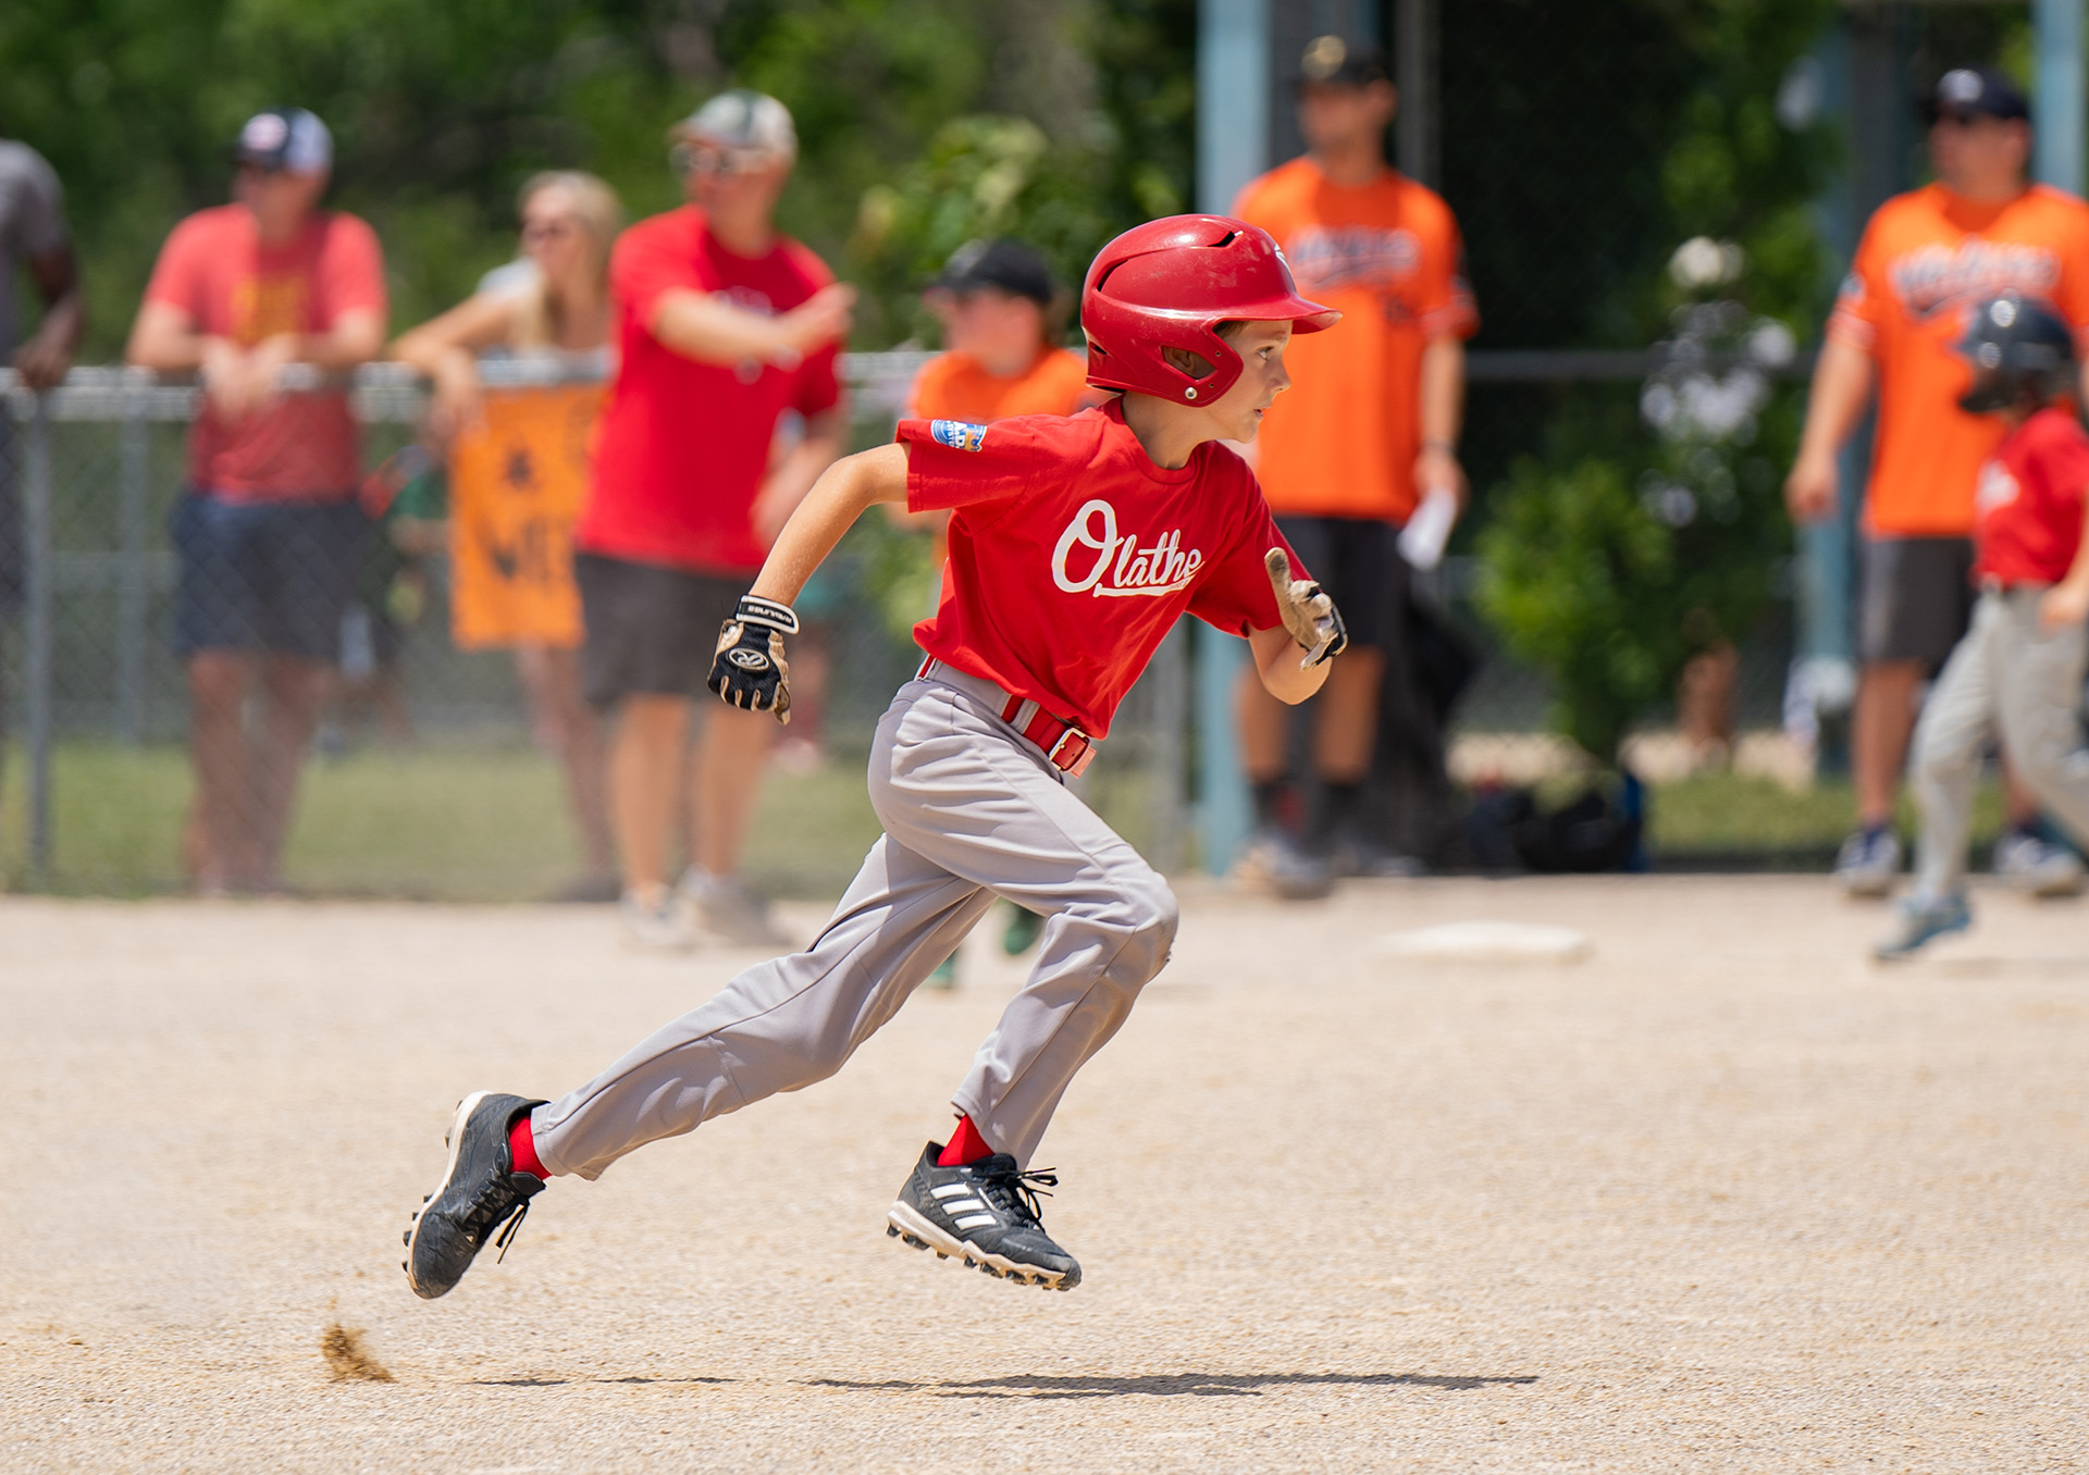
[[1982, 593], [1916, 727], [1916, 798], [1924, 896], [1966, 888], [1972, 796], [1989, 738], [2018, 779], [2079, 844], [2089, 844], [2089, 748], [2083, 748], [2083, 660], [2089, 631], [2039, 627], [2043, 587]]

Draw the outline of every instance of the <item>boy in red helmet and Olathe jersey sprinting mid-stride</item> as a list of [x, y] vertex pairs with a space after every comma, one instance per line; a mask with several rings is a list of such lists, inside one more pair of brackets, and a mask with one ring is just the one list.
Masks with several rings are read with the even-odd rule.
[[1072, 1289], [1080, 1266], [1038, 1222], [1030, 1170], [1074, 1072], [1124, 1024], [1176, 932], [1168, 884], [1074, 798], [1109, 719], [1187, 610], [1245, 635], [1262, 681], [1301, 702], [1341, 618], [1293, 575], [1253, 474], [1214, 441], [1251, 441], [1289, 384], [1285, 345], [1339, 313], [1306, 301], [1276, 242], [1218, 215], [1118, 236], [1088, 267], [1088, 382], [1120, 391], [1072, 420], [905, 420], [898, 443], [836, 462], [792, 514], [719, 637], [710, 689], [790, 712], [790, 602], [879, 501], [950, 510], [928, 660], [871, 748], [886, 834], [804, 951], [758, 963], [558, 1101], [474, 1093], [443, 1180], [405, 1235], [407, 1281], [443, 1295], [506, 1247], [558, 1174], [842, 1068], [963, 940], [994, 896], [1047, 917], [1036, 967], [950, 1097], [886, 1214], [888, 1233], [994, 1277]]

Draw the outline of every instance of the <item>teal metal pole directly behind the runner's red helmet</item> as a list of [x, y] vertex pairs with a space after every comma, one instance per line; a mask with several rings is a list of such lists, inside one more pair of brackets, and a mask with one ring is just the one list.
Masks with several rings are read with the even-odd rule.
[[[1201, 0], [1197, 6], [1197, 209], [1226, 213], [1241, 186], [1268, 167], [1270, 4]], [[1247, 641], [1197, 625], [1197, 840], [1203, 869], [1233, 865], [1253, 823], [1233, 689]]]

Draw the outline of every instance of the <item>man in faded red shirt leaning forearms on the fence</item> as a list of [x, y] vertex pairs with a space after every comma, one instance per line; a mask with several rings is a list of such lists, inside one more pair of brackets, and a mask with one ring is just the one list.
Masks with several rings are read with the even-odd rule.
[[[290, 364], [349, 370], [384, 347], [384, 261], [353, 215], [322, 211], [334, 144], [303, 109], [257, 113], [234, 150], [236, 203], [161, 247], [125, 357], [203, 372], [188, 489], [173, 514], [175, 654], [188, 666], [198, 890], [267, 890], [318, 723], [368, 524], [343, 389], [286, 395]], [[261, 712], [249, 733], [247, 689]]]

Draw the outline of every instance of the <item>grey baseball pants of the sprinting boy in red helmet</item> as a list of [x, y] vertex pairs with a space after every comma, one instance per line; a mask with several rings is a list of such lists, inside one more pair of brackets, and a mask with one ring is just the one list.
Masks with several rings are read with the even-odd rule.
[[827, 930], [537, 1107], [545, 1168], [595, 1178], [633, 1147], [825, 1080], [994, 896], [1044, 917], [1038, 961], [950, 1103], [999, 1151], [1030, 1162], [1074, 1072], [1168, 961], [1176, 900], [1001, 721], [990, 694], [955, 673], [900, 687], [871, 748], [871, 806], [886, 834]]

